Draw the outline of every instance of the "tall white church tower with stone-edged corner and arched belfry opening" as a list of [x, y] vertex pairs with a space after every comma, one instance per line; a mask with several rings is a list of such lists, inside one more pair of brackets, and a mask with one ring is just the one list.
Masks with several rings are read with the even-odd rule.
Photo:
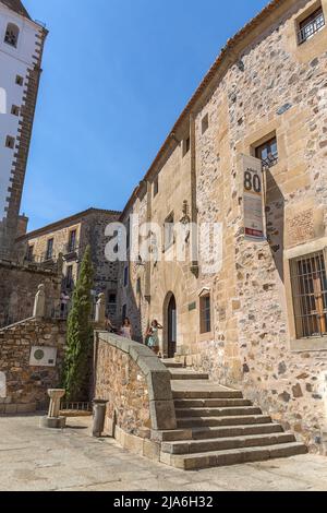
[[0, 259], [17, 235], [47, 34], [21, 0], [0, 0]]

